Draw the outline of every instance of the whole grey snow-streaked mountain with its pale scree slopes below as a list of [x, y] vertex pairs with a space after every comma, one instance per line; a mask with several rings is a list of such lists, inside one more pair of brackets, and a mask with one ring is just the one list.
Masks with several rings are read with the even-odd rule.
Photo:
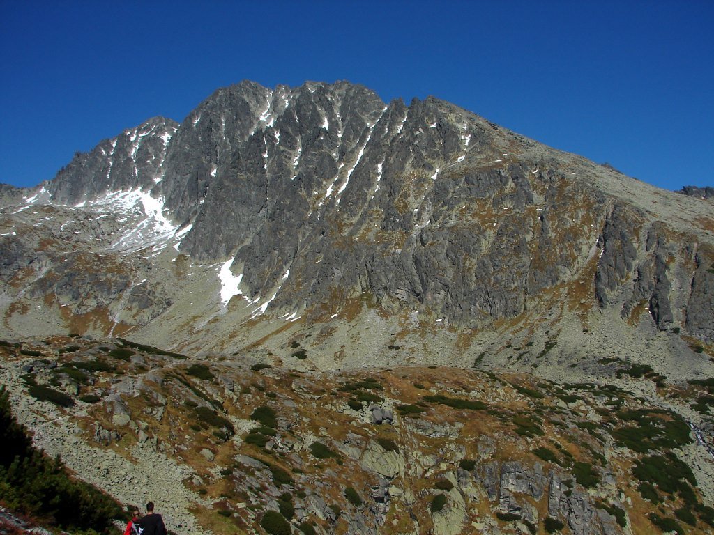
[[359, 365], [344, 361], [354, 344], [373, 363], [391, 345], [457, 365], [496, 346], [494, 364], [516, 365], [523, 337], [533, 370], [553, 343], [610, 356], [611, 332], [639, 358], [647, 333], [660, 371], [708, 373], [691, 348], [714, 340], [710, 203], [436, 98], [242, 82], [5, 198], [6, 335], [131, 332], [230, 354], [317, 330], [321, 367]]

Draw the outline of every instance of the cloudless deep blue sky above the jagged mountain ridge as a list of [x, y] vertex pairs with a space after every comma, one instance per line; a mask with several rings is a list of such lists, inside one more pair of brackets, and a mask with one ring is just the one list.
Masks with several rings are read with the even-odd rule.
[[0, 182], [242, 79], [433, 95], [662, 188], [714, 185], [712, 0], [0, 0]]

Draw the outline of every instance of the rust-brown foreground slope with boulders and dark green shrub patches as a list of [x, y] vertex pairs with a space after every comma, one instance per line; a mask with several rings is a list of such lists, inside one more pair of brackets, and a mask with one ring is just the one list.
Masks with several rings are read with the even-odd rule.
[[[300, 342], [288, 346], [300, 360]], [[321, 534], [714, 525], [711, 379], [615, 362], [603, 365], [623, 387], [438, 367], [300, 372], [81, 337], [0, 352], [36, 444], [122, 501], [154, 499], [178, 534], [263, 533], [266, 511]]]

